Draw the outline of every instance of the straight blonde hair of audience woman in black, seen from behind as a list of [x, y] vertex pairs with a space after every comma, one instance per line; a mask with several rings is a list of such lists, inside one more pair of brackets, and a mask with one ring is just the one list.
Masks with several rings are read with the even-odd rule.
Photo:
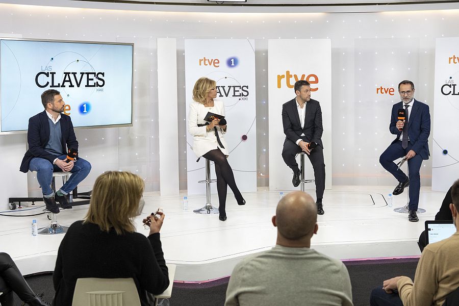
[[101, 231], [133, 233], [133, 217], [139, 208], [145, 184], [131, 172], [107, 171], [97, 177], [91, 194], [89, 211], [83, 223], [95, 223]]

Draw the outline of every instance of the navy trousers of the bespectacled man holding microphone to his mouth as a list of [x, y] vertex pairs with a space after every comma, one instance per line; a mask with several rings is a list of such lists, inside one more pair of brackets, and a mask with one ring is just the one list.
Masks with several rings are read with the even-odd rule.
[[[408, 147], [403, 149], [401, 147], [401, 141], [396, 141], [391, 144], [379, 157], [379, 163], [390, 172], [397, 179], [398, 182], [406, 181], [407, 177], [410, 177], [410, 204], [408, 208], [410, 210], [417, 211], [419, 204], [419, 189], [421, 188], [421, 176], [419, 170], [421, 169], [422, 157], [416, 154], [413, 158], [407, 161], [408, 163], [408, 176], [401, 170], [397, 170], [397, 165], [394, 163], [396, 159], [404, 157], [409, 150], [411, 150], [411, 141], [408, 142]], [[404, 166], [402, 166], [404, 167]]]

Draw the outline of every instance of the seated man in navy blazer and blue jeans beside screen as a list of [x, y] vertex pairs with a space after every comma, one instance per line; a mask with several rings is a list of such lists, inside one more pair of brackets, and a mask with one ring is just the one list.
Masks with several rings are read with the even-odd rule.
[[[67, 149], [78, 151], [78, 141], [73, 131], [72, 120], [62, 114], [65, 102], [59, 91], [48, 89], [41, 95], [45, 110], [29, 119], [27, 142], [29, 149], [25, 152], [20, 171], [37, 171], [37, 180], [43, 193], [46, 209], [59, 213], [61, 208], [70, 209], [67, 194], [85, 179], [91, 170], [91, 164], [82, 158], [67, 162]], [[70, 179], [54, 194], [51, 189], [53, 172], [71, 172]]]

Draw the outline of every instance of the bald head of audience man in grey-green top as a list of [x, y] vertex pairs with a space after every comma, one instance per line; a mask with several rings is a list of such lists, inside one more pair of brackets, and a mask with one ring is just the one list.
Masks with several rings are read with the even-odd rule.
[[290, 192], [277, 204], [277, 230], [286, 239], [299, 240], [312, 236], [316, 222], [316, 203], [305, 192]]

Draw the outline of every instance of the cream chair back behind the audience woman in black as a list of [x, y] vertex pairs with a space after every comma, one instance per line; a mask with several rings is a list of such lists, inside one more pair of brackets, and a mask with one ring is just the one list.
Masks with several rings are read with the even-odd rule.
[[132, 278], [78, 278], [72, 306], [140, 306]]

